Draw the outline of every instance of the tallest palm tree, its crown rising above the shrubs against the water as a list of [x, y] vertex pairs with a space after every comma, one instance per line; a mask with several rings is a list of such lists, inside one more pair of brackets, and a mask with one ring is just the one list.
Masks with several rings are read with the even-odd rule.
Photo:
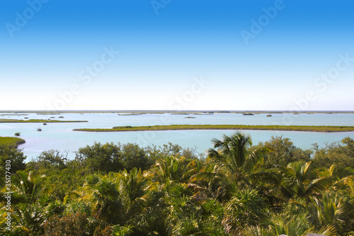
[[263, 154], [270, 152], [267, 147], [252, 148], [250, 135], [236, 132], [230, 136], [224, 135], [222, 140], [213, 139], [214, 148], [208, 150], [207, 171], [193, 176], [193, 181], [207, 181], [212, 184], [213, 179], [219, 179], [217, 195], [222, 194], [227, 199], [232, 192], [239, 188], [251, 187], [253, 179], [269, 178], [272, 174], [256, 170], [256, 166], [263, 159]]

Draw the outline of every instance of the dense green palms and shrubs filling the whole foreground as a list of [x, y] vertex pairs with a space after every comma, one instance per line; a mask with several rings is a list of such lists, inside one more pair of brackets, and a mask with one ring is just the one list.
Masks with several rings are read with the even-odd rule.
[[11, 227], [1, 175], [0, 235], [290, 235], [354, 233], [354, 140], [301, 150], [236, 132], [207, 156], [178, 145], [113, 143], [11, 160]]

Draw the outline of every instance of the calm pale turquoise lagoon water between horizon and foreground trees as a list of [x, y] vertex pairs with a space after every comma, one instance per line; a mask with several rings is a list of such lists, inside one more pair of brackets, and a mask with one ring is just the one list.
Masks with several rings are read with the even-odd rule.
[[[205, 152], [211, 147], [213, 137], [231, 134], [234, 130], [170, 130], [170, 131], [142, 131], [142, 132], [110, 132], [91, 133], [73, 131], [74, 128], [112, 128], [120, 125], [169, 125], [169, 124], [235, 124], [235, 125], [353, 125], [354, 114], [301, 114], [285, 115], [267, 114], [242, 116], [234, 113], [215, 113], [212, 115], [188, 115], [195, 119], [185, 118], [187, 115], [146, 114], [140, 116], [118, 116], [117, 113], [62, 113], [60, 115], [38, 115], [28, 113], [28, 116], [1, 116], [0, 118], [23, 119], [52, 119], [56, 120], [88, 120], [88, 123], [0, 123], [0, 136], [13, 136], [20, 132], [26, 142], [20, 145], [28, 160], [38, 156], [44, 150], [67, 150], [69, 158], [74, 158], [74, 151], [79, 147], [93, 145], [96, 142], [135, 142], [142, 146], [164, 145], [168, 142], [179, 144], [182, 147], [195, 148], [198, 152]], [[6, 113], [9, 114], [9, 113]], [[64, 116], [64, 118], [58, 118]], [[41, 128], [42, 132], [38, 132]], [[253, 144], [270, 140], [271, 136], [283, 135], [289, 137], [297, 147], [308, 149], [312, 143], [320, 147], [329, 142], [337, 142], [343, 137], [354, 138], [354, 132], [346, 133], [315, 133], [294, 131], [244, 130], [253, 139]]]

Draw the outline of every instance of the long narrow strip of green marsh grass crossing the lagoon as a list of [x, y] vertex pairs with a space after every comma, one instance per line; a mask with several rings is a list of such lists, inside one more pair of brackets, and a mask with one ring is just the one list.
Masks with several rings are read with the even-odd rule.
[[116, 126], [113, 128], [81, 128], [75, 131], [119, 132], [149, 130], [287, 130], [308, 132], [348, 132], [354, 126], [309, 126], [309, 125], [154, 125], [154, 126]]

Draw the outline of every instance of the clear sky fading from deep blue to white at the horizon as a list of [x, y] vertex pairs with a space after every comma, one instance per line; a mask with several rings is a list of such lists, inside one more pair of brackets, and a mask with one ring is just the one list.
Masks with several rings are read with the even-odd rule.
[[353, 9], [4, 0], [0, 110], [354, 111]]

